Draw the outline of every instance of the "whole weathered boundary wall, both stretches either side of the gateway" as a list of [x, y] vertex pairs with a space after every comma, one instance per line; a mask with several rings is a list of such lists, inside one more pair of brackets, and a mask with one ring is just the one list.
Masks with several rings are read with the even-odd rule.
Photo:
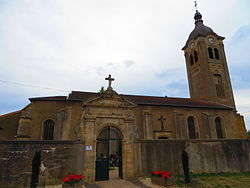
[[[133, 167], [124, 166], [123, 170], [130, 170], [134, 177], [149, 175], [156, 170], [183, 174], [183, 150], [188, 152], [192, 173], [250, 171], [250, 139], [140, 140], [131, 147], [134, 160], [127, 160], [131, 160]], [[40, 176], [41, 185], [60, 184], [67, 174], [84, 172], [83, 142], [0, 141], [0, 188], [29, 186], [32, 159], [37, 150], [41, 150], [47, 169]], [[123, 152], [123, 156], [126, 156], [128, 151]], [[89, 181], [88, 177], [85, 177], [85, 181]]]

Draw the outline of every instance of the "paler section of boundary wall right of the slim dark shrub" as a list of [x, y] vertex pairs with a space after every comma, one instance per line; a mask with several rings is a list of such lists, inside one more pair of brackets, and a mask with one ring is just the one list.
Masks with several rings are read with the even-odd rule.
[[250, 172], [250, 139], [189, 142], [186, 151], [193, 173]]

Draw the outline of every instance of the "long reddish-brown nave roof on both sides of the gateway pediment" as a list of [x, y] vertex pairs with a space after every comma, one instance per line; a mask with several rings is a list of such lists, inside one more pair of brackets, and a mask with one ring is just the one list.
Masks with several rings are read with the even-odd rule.
[[[98, 97], [99, 93], [72, 91], [68, 100], [70, 101], [86, 101], [89, 98]], [[156, 97], [142, 95], [121, 95], [125, 99], [138, 105], [152, 106], [175, 106], [175, 107], [194, 107], [194, 108], [217, 108], [217, 109], [233, 109], [232, 107], [222, 104], [190, 99], [190, 98], [174, 98], [174, 97]]]

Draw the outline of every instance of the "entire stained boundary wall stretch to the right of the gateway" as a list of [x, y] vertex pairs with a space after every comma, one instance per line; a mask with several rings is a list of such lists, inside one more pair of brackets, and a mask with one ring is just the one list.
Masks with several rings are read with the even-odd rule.
[[135, 144], [135, 176], [169, 170], [183, 174], [181, 154], [185, 149], [192, 173], [249, 172], [250, 139], [152, 140]]

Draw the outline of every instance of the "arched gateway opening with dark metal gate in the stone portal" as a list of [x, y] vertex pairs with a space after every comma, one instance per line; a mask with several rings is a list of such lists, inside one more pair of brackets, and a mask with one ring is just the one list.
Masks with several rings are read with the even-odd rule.
[[109, 180], [112, 177], [122, 178], [122, 133], [112, 126], [102, 129], [96, 144], [95, 180]]

